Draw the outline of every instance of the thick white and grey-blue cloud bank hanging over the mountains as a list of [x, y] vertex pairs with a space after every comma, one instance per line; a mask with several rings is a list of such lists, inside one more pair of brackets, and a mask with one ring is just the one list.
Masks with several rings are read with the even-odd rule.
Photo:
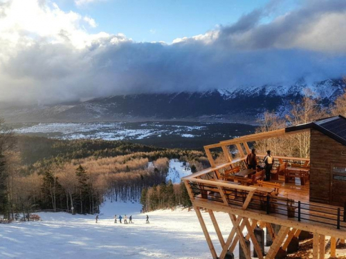
[[345, 75], [345, 0], [304, 1], [263, 23], [271, 8], [165, 44], [90, 34], [97, 21], [55, 3], [0, 1], [0, 102], [47, 104]]

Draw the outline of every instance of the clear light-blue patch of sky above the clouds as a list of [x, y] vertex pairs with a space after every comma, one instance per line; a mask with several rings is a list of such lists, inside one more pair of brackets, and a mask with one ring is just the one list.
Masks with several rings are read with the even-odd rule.
[[[268, 0], [104, 0], [75, 4], [59, 0], [62, 10], [73, 10], [95, 19], [98, 27], [90, 32], [119, 32], [134, 41], [165, 41], [200, 35], [215, 26], [228, 26]], [[297, 1], [282, 1], [275, 12], [288, 12]], [[264, 19], [268, 21], [270, 17]]]

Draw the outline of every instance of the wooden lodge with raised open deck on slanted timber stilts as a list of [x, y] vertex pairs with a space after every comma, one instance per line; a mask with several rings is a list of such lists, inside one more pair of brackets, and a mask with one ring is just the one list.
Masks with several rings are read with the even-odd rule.
[[[246, 169], [249, 145], [258, 140], [310, 133], [310, 157], [274, 155], [271, 181], [264, 171]], [[234, 158], [230, 146], [239, 154]], [[211, 151], [221, 149], [227, 161], [215, 164]], [[206, 237], [212, 258], [233, 258], [239, 242], [242, 258], [251, 258], [248, 241], [257, 258], [284, 258], [291, 243], [302, 233], [313, 233], [313, 258], [325, 258], [326, 241], [330, 256], [336, 256], [336, 242], [346, 238], [346, 118], [320, 119], [309, 124], [237, 137], [204, 146], [210, 168], [193, 173], [183, 181]], [[257, 154], [257, 158], [264, 155]], [[201, 209], [208, 211], [221, 245], [217, 254], [204, 223]], [[224, 240], [214, 211], [230, 216], [233, 229]], [[266, 227], [269, 249], [255, 231]], [[279, 230], [280, 229], [280, 230]], [[244, 236], [243, 232], [247, 231]], [[326, 240], [326, 236], [331, 237]]]

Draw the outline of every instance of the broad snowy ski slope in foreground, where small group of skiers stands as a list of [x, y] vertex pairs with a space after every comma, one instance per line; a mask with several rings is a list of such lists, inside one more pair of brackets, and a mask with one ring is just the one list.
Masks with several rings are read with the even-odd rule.
[[[95, 215], [37, 213], [42, 221], [0, 224], [0, 258], [210, 258], [194, 211], [176, 209], [140, 213], [141, 205], [105, 202], [98, 224]], [[132, 215], [134, 224], [114, 224], [113, 215]], [[221, 247], [209, 214], [203, 212], [211, 238]], [[145, 224], [149, 215], [150, 224]], [[226, 213], [215, 213], [224, 238], [232, 224]], [[237, 253], [235, 254], [237, 256]]]

